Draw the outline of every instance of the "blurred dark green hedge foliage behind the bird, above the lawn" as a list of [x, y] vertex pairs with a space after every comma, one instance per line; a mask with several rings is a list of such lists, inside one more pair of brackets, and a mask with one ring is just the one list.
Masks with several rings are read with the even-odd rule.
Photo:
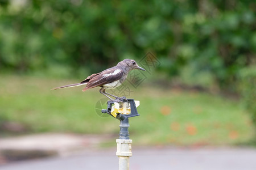
[[163, 73], [236, 91], [255, 63], [255, 11], [235, 0], [1, 1], [0, 67], [73, 76], [151, 50]]

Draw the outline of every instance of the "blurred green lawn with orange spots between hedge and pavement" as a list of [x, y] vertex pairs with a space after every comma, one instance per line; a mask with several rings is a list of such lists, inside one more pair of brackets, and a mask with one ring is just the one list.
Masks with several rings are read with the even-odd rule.
[[[50, 90], [75, 82], [79, 80], [0, 75], [0, 122], [19, 122], [31, 133], [118, 136], [118, 120], [96, 113], [97, 101], [105, 99], [98, 88], [86, 92], [82, 87]], [[129, 97], [141, 101], [141, 116], [130, 118], [134, 145], [236, 145], [253, 135], [251, 121], [239, 101], [145, 84], [133, 91]]]

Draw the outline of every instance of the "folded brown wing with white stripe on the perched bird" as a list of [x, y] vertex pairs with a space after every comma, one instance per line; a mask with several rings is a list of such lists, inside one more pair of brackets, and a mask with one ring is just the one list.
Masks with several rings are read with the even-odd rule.
[[82, 91], [115, 82], [116, 80], [122, 78], [124, 74], [125, 73], [121, 69], [111, 68], [104, 70], [100, 74], [93, 76], [93, 78], [89, 80], [87, 86]]

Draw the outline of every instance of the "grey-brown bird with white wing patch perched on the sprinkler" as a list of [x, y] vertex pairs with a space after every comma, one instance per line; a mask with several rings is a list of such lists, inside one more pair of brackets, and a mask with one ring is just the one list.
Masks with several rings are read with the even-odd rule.
[[[113, 89], [121, 86], [121, 84], [127, 78], [129, 72], [134, 69], [146, 71], [145, 69], [140, 67], [137, 64], [137, 62], [134, 61], [134, 59], [123, 59], [123, 61], [118, 62], [116, 66], [106, 69], [104, 71], [101, 71], [100, 73], [92, 74], [88, 76], [85, 80], [82, 80], [80, 83], [55, 87], [55, 88], [52, 88], [52, 90], [86, 85], [82, 90], [84, 92], [90, 88], [101, 87], [100, 93], [102, 95], [108, 97], [112, 101], [122, 101], [123, 100], [122, 97], [114, 96], [105, 91], [107, 89]], [[112, 99], [110, 96], [115, 97], [115, 99]]]

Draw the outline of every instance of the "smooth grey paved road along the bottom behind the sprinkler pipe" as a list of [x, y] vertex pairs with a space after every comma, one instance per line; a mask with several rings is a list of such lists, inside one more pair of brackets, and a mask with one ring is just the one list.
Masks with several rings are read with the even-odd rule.
[[[2, 165], [1, 170], [41, 169], [118, 169], [115, 149], [88, 151], [64, 158], [48, 158]], [[253, 148], [133, 148], [130, 169], [172, 170], [255, 170], [256, 149]]]

